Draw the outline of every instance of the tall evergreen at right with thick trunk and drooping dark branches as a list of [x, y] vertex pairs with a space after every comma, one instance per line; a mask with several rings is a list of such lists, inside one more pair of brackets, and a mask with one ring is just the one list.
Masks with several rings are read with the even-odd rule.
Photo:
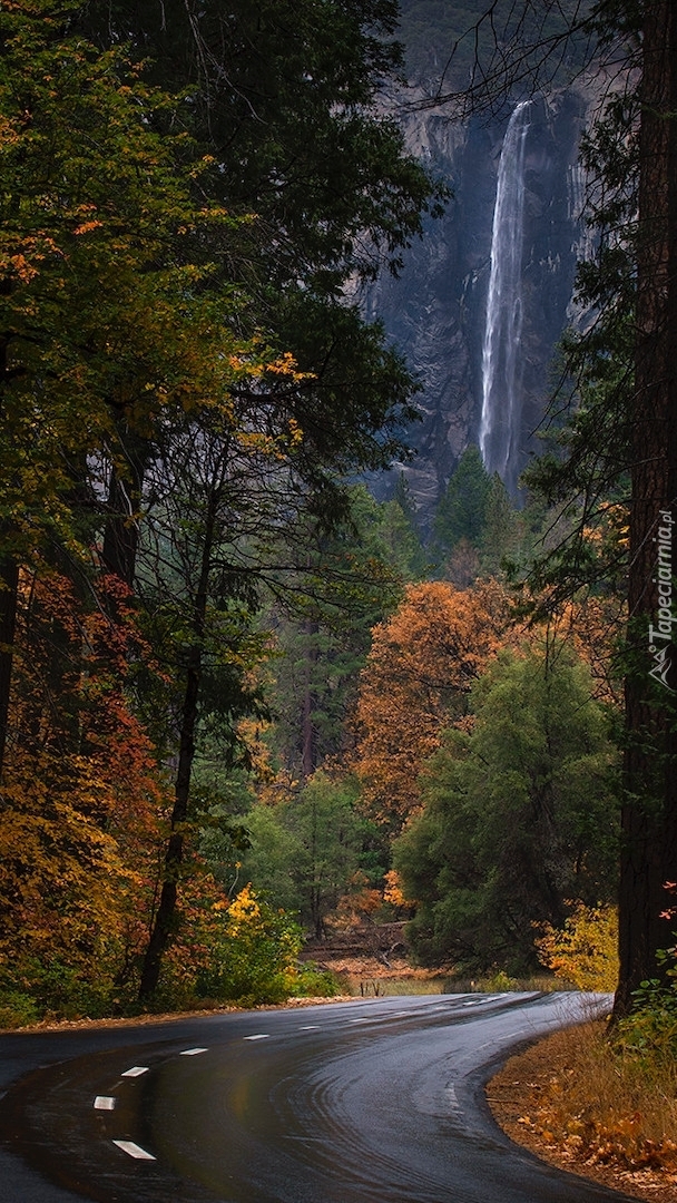
[[[660, 532], [671, 529], [665, 516], [677, 505], [677, 14], [671, 0], [598, 0], [571, 11], [524, 0], [503, 10], [501, 28], [499, 11], [486, 6], [476, 22], [476, 35], [491, 28], [497, 36], [470, 89], [464, 95], [439, 89], [435, 103], [456, 102], [467, 112], [500, 103], [516, 85], [521, 94], [529, 85], [542, 90], [569, 52], [577, 55], [578, 35], [588, 64], [613, 64], [610, 78], [626, 84], [624, 91], [610, 88], [588, 142], [588, 165], [599, 168], [588, 202], [600, 238], [599, 255], [581, 280], [598, 318], [582, 344], [590, 374], [583, 371], [582, 405], [564, 435], [564, 462], [551, 457], [548, 464], [550, 496], [562, 503], [570, 526], [554, 571], [550, 559], [535, 579], [547, 582], [548, 599], [558, 602], [582, 583], [604, 587], [608, 570], [614, 581], [619, 569], [628, 571], [619, 1019], [640, 983], [663, 972], [657, 953], [672, 942], [665, 883], [677, 864], [675, 648], [658, 563]], [[551, 28], [552, 17], [559, 28]], [[587, 387], [592, 381], [599, 387]], [[629, 539], [624, 533], [616, 546], [607, 543], [611, 556], [602, 559], [600, 541], [588, 533], [600, 504], [619, 496], [628, 505]], [[666, 627], [652, 641], [659, 610]]]

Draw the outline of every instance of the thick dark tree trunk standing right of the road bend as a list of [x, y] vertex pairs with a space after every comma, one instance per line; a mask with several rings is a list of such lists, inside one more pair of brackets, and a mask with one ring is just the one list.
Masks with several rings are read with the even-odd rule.
[[[637, 327], [633, 399], [629, 663], [625, 680], [619, 953], [614, 1019], [659, 976], [673, 942], [677, 879], [677, 10], [645, 4], [640, 130]], [[673, 526], [675, 523], [675, 526]], [[663, 611], [663, 621], [661, 621]], [[672, 617], [675, 615], [675, 617]], [[672, 660], [671, 660], [672, 658]]]

